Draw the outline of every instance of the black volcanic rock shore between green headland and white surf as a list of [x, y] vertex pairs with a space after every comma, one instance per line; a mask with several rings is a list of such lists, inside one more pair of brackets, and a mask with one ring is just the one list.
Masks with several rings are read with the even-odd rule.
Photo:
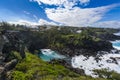
[[72, 49], [68, 47], [59, 49], [59, 48], [52, 48], [59, 53], [66, 55], [66, 56], [75, 56], [75, 55], [85, 55], [85, 56], [96, 56], [98, 51], [110, 51], [113, 49], [112, 43], [108, 41], [99, 41], [96, 43], [89, 44], [89, 47], [73, 47]]

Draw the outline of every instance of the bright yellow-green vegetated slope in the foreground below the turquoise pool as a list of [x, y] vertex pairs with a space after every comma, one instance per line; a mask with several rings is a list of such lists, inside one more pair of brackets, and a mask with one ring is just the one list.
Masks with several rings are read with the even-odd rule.
[[44, 62], [28, 52], [8, 76], [11, 80], [107, 80], [81, 76], [59, 64]]

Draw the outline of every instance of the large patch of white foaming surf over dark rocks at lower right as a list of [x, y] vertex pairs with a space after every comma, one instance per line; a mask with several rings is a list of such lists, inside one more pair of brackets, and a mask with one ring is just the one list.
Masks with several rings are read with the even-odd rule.
[[71, 60], [73, 68], [80, 68], [85, 70], [86, 75], [95, 77], [94, 69], [109, 69], [120, 73], [120, 54], [104, 54], [97, 57], [85, 57], [83, 55], [75, 56]]

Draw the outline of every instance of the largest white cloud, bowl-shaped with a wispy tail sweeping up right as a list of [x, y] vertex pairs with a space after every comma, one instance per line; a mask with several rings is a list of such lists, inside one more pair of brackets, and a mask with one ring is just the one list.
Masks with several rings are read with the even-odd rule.
[[88, 26], [102, 19], [104, 14], [115, 7], [116, 5], [109, 5], [97, 8], [85, 8], [74, 7], [72, 9], [47, 8], [46, 15], [49, 19], [65, 24], [68, 26]]

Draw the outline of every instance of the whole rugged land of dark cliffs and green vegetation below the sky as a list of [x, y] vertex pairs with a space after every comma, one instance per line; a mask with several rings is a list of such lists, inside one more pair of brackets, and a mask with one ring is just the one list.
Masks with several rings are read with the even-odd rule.
[[[111, 40], [120, 39], [118, 29], [93, 27], [59, 27], [0, 25], [1, 80], [119, 80], [118, 73], [106, 69], [94, 70], [98, 78], [87, 76], [83, 69], [73, 68], [69, 60], [45, 62], [38, 56], [40, 49], [52, 49], [68, 59], [76, 55], [94, 57], [109, 53]], [[118, 54], [119, 51], [116, 50]], [[115, 62], [115, 59], [112, 59]]]

